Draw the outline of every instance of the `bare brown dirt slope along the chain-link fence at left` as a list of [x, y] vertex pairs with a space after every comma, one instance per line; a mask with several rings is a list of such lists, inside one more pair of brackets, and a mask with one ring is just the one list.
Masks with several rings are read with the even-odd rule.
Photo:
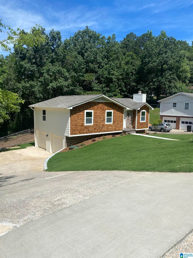
[[0, 148], [13, 147], [15, 145], [28, 143], [28, 142], [34, 142], [34, 133], [11, 136], [3, 142], [0, 141]]

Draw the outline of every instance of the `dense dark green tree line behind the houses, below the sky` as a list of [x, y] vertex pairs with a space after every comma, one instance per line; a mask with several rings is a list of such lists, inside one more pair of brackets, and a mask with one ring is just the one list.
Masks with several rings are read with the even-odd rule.
[[32, 128], [28, 106], [60, 95], [132, 97], [142, 90], [151, 103], [152, 96], [191, 92], [193, 47], [164, 31], [159, 36], [131, 32], [118, 42], [115, 34], [106, 38], [88, 27], [64, 41], [60, 31], [38, 29], [41, 44], [15, 44], [14, 52], [0, 60], [0, 88], [24, 100], [1, 125], [0, 136]]

